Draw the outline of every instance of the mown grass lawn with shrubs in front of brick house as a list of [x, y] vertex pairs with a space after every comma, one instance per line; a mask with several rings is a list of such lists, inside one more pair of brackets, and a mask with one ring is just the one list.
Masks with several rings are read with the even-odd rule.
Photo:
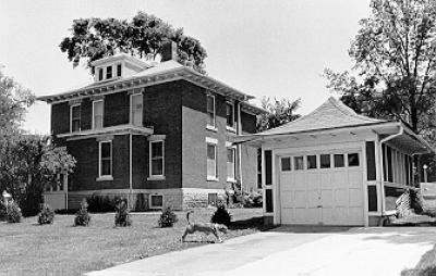
[[[215, 210], [194, 210], [192, 221], [208, 222]], [[230, 239], [259, 231], [262, 210], [231, 209]], [[52, 225], [40, 226], [37, 217], [19, 224], [0, 222], [0, 275], [80, 275], [134, 260], [213, 242], [209, 236], [180, 237], [186, 226], [185, 213], [177, 212], [173, 228], [159, 228], [160, 213], [132, 213], [133, 226], [113, 227], [113, 213], [92, 214], [88, 227], [73, 227], [74, 215], [57, 215]]]

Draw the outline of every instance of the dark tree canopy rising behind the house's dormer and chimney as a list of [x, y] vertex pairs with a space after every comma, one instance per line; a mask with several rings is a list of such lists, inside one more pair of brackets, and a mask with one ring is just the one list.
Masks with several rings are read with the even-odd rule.
[[[117, 52], [154, 60], [162, 42], [172, 40], [178, 45], [178, 61], [205, 73], [204, 59], [207, 54], [199, 40], [184, 35], [182, 28], [174, 29], [155, 15], [138, 12], [131, 21], [80, 18], [73, 21], [71, 32], [71, 37], [63, 38], [59, 47], [66, 52], [74, 67], [81, 60], [85, 60], [90, 67], [90, 62]], [[90, 71], [94, 74], [92, 67]]]

